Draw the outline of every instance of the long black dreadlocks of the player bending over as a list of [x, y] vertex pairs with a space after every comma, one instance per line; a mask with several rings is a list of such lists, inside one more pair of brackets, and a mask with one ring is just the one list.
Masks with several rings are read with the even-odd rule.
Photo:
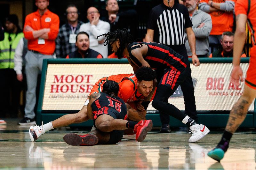
[[123, 58], [124, 48], [126, 48], [128, 44], [132, 41], [132, 35], [128, 32], [126, 28], [122, 30], [117, 29], [116, 31], [113, 31], [111, 33], [105, 33], [105, 34], [99, 35], [97, 36], [97, 38], [100, 36], [107, 37], [106, 40], [104, 41], [104, 43], [106, 43], [104, 44], [104, 46], [107, 46], [108, 44], [112, 45], [116, 40], [119, 39], [120, 47], [116, 51], [116, 55], [119, 59]]

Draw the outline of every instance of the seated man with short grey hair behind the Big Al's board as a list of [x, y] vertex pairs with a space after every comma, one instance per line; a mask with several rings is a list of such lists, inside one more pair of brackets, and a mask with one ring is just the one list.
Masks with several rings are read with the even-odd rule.
[[[232, 32], [224, 32], [221, 35], [220, 44], [222, 48], [214, 51], [209, 55], [209, 58], [212, 57], [233, 57], [233, 48], [234, 48], [234, 33]], [[241, 57], [246, 57], [243, 53]]]

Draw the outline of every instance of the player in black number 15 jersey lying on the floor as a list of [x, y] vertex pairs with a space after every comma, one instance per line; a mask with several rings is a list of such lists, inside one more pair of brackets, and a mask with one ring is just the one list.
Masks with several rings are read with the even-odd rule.
[[122, 139], [124, 129], [133, 129], [136, 140], [142, 142], [152, 129], [152, 121], [124, 120], [129, 112], [126, 108], [127, 103], [117, 96], [118, 91], [119, 85], [115, 81], [107, 80], [102, 92], [91, 94], [87, 113], [90, 119], [93, 119], [96, 130], [86, 135], [69, 133], [63, 140], [69, 145], [116, 144]]

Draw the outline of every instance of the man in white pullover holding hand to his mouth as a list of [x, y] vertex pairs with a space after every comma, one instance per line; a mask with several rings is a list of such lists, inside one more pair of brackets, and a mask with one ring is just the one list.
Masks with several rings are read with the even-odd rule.
[[100, 13], [95, 7], [90, 7], [87, 10], [87, 19], [89, 22], [82, 24], [79, 31], [84, 31], [89, 34], [90, 48], [99, 52], [103, 58], [108, 57], [108, 47], [104, 46], [105, 37], [97, 36], [108, 33], [110, 25], [108, 22], [100, 20]]

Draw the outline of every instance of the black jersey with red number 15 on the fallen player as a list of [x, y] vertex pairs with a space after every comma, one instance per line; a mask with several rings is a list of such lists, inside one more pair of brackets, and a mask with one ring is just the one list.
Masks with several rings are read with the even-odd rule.
[[122, 115], [126, 115], [127, 113], [127, 108], [125, 106], [124, 100], [122, 100], [118, 96], [116, 96], [115, 98], [111, 97], [104, 92], [100, 92], [100, 97], [92, 102], [93, 113], [97, 113], [100, 109], [104, 112], [103, 114], [108, 114], [108, 111], [117, 112]]

